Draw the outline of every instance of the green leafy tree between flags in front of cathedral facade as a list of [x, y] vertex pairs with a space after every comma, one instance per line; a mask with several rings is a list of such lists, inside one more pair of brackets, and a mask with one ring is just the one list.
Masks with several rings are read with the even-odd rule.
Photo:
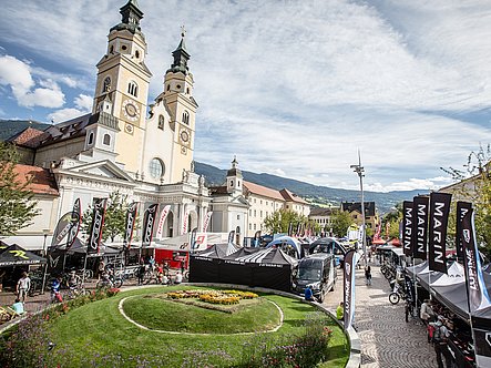
[[[110, 194], [105, 206], [104, 226], [102, 228], [102, 239], [104, 242], [109, 238], [111, 238], [111, 242], [114, 242], [116, 236], [124, 236], [127, 207], [126, 195], [122, 195], [117, 191]], [[93, 207], [89, 206], [83, 214], [82, 223], [82, 231], [85, 235], [90, 232], [92, 216]]]

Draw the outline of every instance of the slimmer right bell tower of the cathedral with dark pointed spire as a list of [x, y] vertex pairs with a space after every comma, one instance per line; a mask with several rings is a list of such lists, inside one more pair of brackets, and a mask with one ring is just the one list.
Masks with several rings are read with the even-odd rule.
[[190, 72], [187, 61], [190, 53], [186, 50], [185, 30], [182, 28], [181, 42], [172, 53], [174, 62], [165, 73], [164, 99], [170, 114], [171, 126], [174, 131], [173, 152], [171, 164], [171, 182], [182, 180], [183, 171], [192, 170], [194, 154], [195, 115], [197, 103], [193, 98], [193, 74]]

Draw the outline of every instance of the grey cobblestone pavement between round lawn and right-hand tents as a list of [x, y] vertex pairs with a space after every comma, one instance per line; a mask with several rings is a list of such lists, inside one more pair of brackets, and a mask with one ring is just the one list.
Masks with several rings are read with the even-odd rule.
[[[405, 320], [403, 300], [389, 303], [389, 283], [378, 266], [371, 266], [372, 285], [365, 285], [365, 274], [356, 274], [355, 328], [361, 341], [364, 368], [433, 368], [438, 367], [434, 349], [427, 341], [426, 328], [419, 319]], [[325, 304], [335, 310], [342, 300], [342, 277], [338, 270], [336, 290]]]

